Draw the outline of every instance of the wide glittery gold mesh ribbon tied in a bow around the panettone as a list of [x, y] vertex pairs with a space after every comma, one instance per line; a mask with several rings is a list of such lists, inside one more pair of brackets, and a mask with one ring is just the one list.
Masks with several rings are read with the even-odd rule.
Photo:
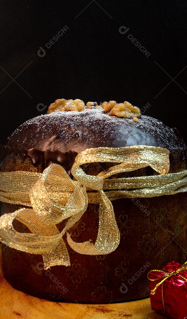
[[[121, 163], [97, 176], [87, 175], [80, 167], [92, 162]], [[162, 175], [113, 178], [113, 174], [151, 166]], [[187, 191], [187, 170], [167, 174], [169, 151], [154, 146], [90, 148], [79, 153], [72, 166], [72, 180], [63, 167], [51, 164], [43, 173], [0, 172], [0, 201], [23, 204], [33, 209], [19, 209], [0, 218], [0, 240], [11, 248], [41, 254], [44, 267], [70, 265], [63, 235], [84, 214], [88, 203], [99, 203], [99, 229], [95, 244], [77, 243], [67, 232], [67, 241], [80, 254], [101, 255], [113, 252], [120, 241], [111, 200], [122, 197], [153, 197]], [[132, 190], [129, 190], [132, 189]], [[94, 192], [91, 192], [94, 190]], [[105, 190], [105, 191], [104, 191]], [[87, 192], [88, 191], [88, 192]], [[56, 224], [70, 217], [59, 233]], [[32, 234], [19, 233], [14, 219]]]

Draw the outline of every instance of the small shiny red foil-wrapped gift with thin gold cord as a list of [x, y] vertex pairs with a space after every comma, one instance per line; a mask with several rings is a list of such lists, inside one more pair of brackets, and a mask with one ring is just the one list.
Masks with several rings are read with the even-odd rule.
[[187, 262], [166, 264], [151, 270], [149, 279], [151, 308], [171, 319], [187, 318]]

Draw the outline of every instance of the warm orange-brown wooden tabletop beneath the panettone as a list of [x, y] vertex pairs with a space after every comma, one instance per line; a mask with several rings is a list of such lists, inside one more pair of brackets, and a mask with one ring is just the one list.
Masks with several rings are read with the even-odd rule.
[[[0, 244], [1, 248], [1, 244]], [[1, 249], [0, 249], [1, 251]], [[1, 271], [0, 254], [0, 319], [159, 319], [167, 318], [151, 310], [150, 298], [143, 300], [88, 305], [55, 302], [36, 298], [12, 288]]]

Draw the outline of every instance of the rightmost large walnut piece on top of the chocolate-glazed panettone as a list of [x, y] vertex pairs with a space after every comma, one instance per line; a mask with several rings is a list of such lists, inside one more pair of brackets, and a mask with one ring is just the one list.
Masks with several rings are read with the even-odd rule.
[[141, 113], [139, 108], [125, 101], [123, 103], [116, 104], [111, 109], [109, 115], [132, 118], [135, 122], [138, 122], [138, 118], [141, 116]]

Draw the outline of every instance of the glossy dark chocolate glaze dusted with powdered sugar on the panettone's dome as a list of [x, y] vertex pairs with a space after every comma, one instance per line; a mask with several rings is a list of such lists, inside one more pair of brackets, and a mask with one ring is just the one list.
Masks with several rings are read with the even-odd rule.
[[[6, 146], [0, 146], [1, 163], [11, 152], [29, 157], [34, 165], [41, 160], [60, 163], [69, 170], [77, 153], [90, 147], [152, 145], [169, 151], [186, 146], [173, 129], [142, 115], [138, 122], [110, 116], [102, 110], [54, 112], [37, 116], [20, 125]], [[67, 167], [68, 166], [68, 167]]]

